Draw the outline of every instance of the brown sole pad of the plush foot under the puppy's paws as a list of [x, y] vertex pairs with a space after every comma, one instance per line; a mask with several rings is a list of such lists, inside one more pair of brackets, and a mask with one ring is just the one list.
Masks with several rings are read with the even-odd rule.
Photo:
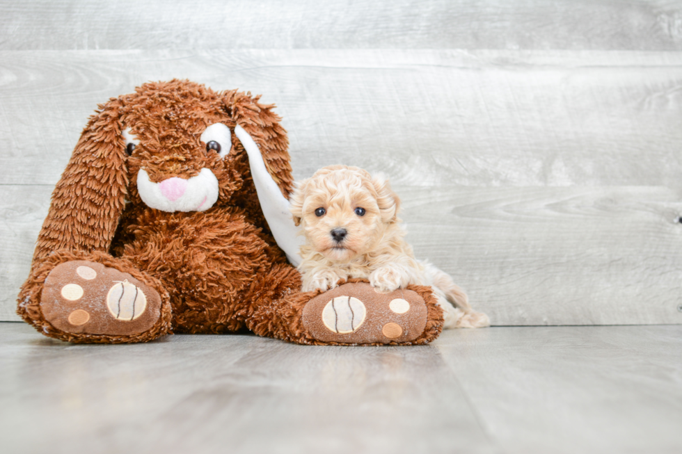
[[303, 325], [318, 341], [345, 344], [411, 343], [427, 326], [427, 305], [414, 291], [378, 293], [363, 282], [312, 298]]

